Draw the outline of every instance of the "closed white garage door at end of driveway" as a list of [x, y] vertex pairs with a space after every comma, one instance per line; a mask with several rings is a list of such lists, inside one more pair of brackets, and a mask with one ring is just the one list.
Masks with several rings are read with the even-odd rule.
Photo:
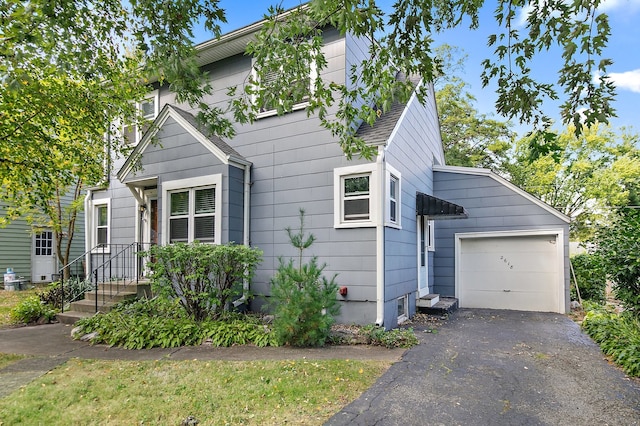
[[[561, 240], [560, 240], [561, 241]], [[461, 307], [564, 312], [558, 235], [456, 236]]]

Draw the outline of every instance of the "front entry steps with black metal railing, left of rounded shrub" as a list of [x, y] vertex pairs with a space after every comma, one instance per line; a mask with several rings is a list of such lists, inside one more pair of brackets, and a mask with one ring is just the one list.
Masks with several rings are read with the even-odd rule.
[[56, 315], [63, 324], [75, 324], [76, 321], [96, 314], [96, 297], [98, 312], [109, 312], [114, 305], [124, 300], [149, 297], [151, 285], [147, 280], [125, 284], [99, 284], [98, 291], [88, 291], [83, 300], [72, 302], [69, 310]]

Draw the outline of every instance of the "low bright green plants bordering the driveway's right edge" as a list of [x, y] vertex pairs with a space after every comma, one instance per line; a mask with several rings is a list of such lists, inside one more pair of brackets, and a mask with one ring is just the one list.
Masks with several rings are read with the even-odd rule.
[[587, 312], [582, 328], [602, 351], [631, 376], [640, 377], [640, 320], [599, 307]]

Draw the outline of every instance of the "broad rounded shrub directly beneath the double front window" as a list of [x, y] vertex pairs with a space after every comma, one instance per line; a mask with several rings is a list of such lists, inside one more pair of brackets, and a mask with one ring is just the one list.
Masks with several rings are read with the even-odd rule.
[[154, 293], [179, 300], [196, 321], [228, 310], [262, 260], [255, 248], [198, 242], [153, 246], [146, 255], [155, 258], [148, 264]]

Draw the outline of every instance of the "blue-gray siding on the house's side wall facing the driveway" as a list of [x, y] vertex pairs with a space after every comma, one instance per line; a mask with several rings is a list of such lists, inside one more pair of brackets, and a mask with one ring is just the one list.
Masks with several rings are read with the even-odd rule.
[[[427, 106], [417, 99], [410, 102], [390, 141], [385, 159], [401, 174], [401, 226], [385, 228], [385, 318], [386, 328], [397, 325], [396, 300], [409, 295], [409, 315], [415, 313], [418, 288], [416, 192], [433, 193], [433, 162], [444, 158], [440, 125], [435, 110], [433, 92]], [[388, 202], [388, 196], [385, 196]], [[385, 208], [386, 204], [385, 204]], [[429, 256], [429, 274], [432, 256]], [[429, 278], [429, 283], [433, 280]]]

